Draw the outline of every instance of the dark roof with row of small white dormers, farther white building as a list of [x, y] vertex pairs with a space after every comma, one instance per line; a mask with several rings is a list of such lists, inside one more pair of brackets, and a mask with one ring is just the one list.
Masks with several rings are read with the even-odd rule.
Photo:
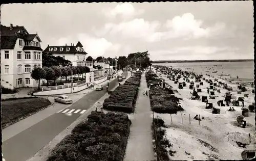
[[[56, 51], [50, 51], [50, 48], [57, 48]], [[61, 51], [60, 48], [63, 48]], [[69, 51], [67, 51], [67, 48], [69, 47]], [[51, 53], [81, 53], [81, 54], [88, 54], [86, 51], [79, 51], [76, 49], [76, 46], [47, 46], [46, 49], [43, 52], [51, 52]]]

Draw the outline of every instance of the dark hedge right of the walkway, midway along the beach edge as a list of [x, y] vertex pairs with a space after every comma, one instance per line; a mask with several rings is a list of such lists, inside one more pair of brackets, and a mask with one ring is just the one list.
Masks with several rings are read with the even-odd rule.
[[[156, 83], [158, 79], [155, 73], [146, 73], [147, 83]], [[157, 83], [158, 84], [158, 83]], [[167, 113], [167, 114], [177, 114], [178, 111], [184, 111], [184, 109], [179, 105], [179, 100], [173, 95], [174, 92], [170, 88], [162, 89], [155, 88], [154, 86], [150, 89], [150, 103], [151, 110], [156, 113]]]

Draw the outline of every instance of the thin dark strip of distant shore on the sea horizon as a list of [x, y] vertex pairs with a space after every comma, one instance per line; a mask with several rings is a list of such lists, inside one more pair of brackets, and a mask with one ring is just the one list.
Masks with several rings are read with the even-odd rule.
[[207, 63], [207, 62], [253, 62], [253, 59], [233, 59], [233, 60], [161, 60], [152, 63]]

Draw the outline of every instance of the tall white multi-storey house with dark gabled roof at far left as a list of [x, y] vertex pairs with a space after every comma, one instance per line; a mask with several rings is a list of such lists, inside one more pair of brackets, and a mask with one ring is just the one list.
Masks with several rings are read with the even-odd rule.
[[37, 87], [33, 68], [42, 67], [41, 40], [24, 26], [1, 25], [1, 86], [9, 89]]

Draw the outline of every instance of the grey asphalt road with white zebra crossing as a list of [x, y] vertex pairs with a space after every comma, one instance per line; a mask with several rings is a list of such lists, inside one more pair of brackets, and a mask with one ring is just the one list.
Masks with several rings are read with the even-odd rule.
[[[124, 72], [127, 76], [127, 72]], [[109, 89], [113, 89], [118, 84], [117, 79], [110, 82]], [[68, 109], [88, 110], [106, 93], [106, 85], [102, 91], [92, 91], [83, 96], [80, 100], [69, 106]], [[3, 142], [4, 158], [8, 161], [26, 161], [37, 151], [54, 139], [62, 130], [72, 124], [79, 113], [68, 116], [56, 113], [50, 117], [34, 124], [16, 136]]]

